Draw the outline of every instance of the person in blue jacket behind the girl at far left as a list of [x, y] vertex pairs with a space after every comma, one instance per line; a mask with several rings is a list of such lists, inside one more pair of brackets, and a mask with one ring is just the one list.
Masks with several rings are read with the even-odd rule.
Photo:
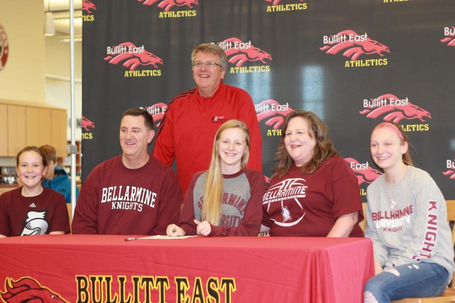
[[[42, 186], [54, 189], [65, 196], [66, 203], [71, 203], [71, 179], [63, 168], [57, 167], [57, 150], [51, 145], [39, 146], [48, 162], [48, 169], [42, 180]], [[79, 188], [76, 186], [76, 200]]]

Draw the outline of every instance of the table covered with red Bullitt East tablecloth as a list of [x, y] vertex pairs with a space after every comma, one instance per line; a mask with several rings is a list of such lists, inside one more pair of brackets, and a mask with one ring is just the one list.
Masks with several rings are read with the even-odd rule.
[[368, 238], [125, 237], [0, 239], [0, 293], [78, 303], [355, 303], [374, 275]]

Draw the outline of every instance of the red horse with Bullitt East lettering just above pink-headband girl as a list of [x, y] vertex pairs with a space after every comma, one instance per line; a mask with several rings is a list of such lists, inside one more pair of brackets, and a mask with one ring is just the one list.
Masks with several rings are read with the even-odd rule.
[[425, 119], [431, 119], [431, 114], [419, 107], [412, 104], [408, 98], [398, 98], [397, 96], [387, 93], [380, 95], [377, 98], [363, 100], [363, 107], [366, 108], [359, 113], [365, 115], [367, 118], [377, 119], [385, 115], [384, 121], [392, 121], [399, 123], [401, 120], [419, 119], [425, 122]]

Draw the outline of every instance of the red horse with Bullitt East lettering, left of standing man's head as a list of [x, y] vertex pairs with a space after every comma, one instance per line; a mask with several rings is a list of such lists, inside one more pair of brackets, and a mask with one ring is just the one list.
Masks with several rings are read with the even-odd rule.
[[144, 45], [136, 46], [131, 42], [123, 42], [117, 46], [107, 47], [108, 56], [104, 58], [109, 64], [118, 64], [123, 62], [123, 66], [130, 71], [135, 70], [141, 65], [153, 65], [158, 68], [158, 64], [163, 65], [163, 60], [148, 52]]

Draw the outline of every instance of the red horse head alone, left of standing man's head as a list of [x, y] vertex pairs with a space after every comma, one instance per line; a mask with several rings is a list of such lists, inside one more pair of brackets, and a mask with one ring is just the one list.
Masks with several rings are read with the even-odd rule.
[[[118, 47], [126, 46], [127, 48], [131, 47], [136, 47], [131, 42], [123, 42], [121, 44], [118, 44]], [[133, 71], [136, 69], [136, 67], [140, 65], [153, 65], [155, 68], [157, 68], [158, 64], [163, 65], [163, 60], [152, 53], [144, 51], [142, 53], [122, 53], [118, 55], [109, 55], [106, 58], [104, 58], [105, 61], [109, 60], [109, 64], [118, 64], [119, 62], [126, 60], [125, 63], [123, 63], [124, 67], [129, 68], [130, 71]]]

